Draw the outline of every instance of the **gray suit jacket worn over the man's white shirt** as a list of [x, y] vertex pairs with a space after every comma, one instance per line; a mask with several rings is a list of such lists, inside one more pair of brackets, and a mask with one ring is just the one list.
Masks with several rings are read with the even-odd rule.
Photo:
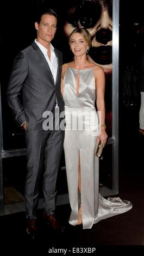
[[40, 48], [32, 43], [18, 53], [9, 79], [7, 98], [18, 125], [27, 121], [31, 129], [42, 129], [42, 114], [54, 112], [56, 97], [60, 113], [64, 111], [64, 100], [60, 92], [62, 53], [54, 48], [58, 58], [57, 80]]

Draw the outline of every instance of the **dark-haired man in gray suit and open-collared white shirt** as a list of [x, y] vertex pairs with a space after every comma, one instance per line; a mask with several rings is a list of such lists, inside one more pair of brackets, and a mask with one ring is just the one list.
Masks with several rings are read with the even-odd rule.
[[[14, 118], [24, 127], [26, 135], [26, 230], [32, 237], [37, 231], [36, 209], [41, 175], [45, 219], [54, 230], [61, 230], [54, 211], [55, 185], [64, 143], [64, 129], [58, 125], [64, 121], [64, 100], [60, 92], [62, 53], [51, 44], [57, 30], [55, 11], [49, 9], [41, 13], [35, 29], [37, 38], [14, 60], [7, 91]], [[48, 119], [50, 113], [53, 118]]]

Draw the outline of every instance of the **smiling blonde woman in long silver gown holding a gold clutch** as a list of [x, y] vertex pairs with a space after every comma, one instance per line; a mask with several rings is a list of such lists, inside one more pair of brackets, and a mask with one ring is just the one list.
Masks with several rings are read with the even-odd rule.
[[[132, 208], [120, 198], [104, 199], [99, 194], [99, 159], [94, 154], [99, 140], [104, 147], [104, 70], [87, 60], [91, 36], [84, 28], [70, 35], [74, 60], [62, 66], [61, 92], [65, 101], [65, 163], [71, 205], [69, 223], [83, 229]], [[95, 101], [97, 111], [95, 108]], [[99, 114], [98, 114], [99, 113]]]

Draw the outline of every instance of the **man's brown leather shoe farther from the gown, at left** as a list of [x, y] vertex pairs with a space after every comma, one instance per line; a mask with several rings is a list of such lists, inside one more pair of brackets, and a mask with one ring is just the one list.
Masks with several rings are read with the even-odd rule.
[[37, 234], [36, 220], [34, 219], [27, 220], [26, 233], [29, 235], [30, 238], [35, 239], [35, 236]]

